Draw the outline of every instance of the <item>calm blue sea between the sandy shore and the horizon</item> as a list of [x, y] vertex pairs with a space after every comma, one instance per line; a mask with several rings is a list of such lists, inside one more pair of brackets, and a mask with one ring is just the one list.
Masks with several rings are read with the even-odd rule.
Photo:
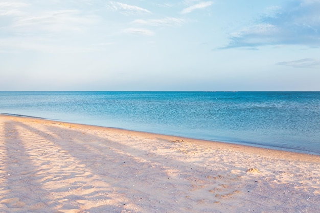
[[320, 92], [0, 92], [0, 113], [320, 155]]

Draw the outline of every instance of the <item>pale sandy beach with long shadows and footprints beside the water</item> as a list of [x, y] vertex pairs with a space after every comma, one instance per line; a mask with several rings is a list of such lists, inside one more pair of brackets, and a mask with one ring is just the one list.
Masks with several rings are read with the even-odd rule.
[[0, 162], [0, 212], [320, 212], [320, 156], [0, 115]]

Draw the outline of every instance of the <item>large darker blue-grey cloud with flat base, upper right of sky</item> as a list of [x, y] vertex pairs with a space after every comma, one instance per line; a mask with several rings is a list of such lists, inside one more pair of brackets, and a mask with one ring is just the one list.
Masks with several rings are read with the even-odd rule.
[[263, 15], [257, 24], [230, 36], [224, 48], [297, 44], [320, 46], [320, 1], [294, 0], [276, 13]]

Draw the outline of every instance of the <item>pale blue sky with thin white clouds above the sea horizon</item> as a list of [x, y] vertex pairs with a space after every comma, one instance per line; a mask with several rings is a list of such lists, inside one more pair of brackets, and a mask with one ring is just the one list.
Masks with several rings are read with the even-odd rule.
[[0, 0], [0, 91], [320, 91], [320, 0]]

